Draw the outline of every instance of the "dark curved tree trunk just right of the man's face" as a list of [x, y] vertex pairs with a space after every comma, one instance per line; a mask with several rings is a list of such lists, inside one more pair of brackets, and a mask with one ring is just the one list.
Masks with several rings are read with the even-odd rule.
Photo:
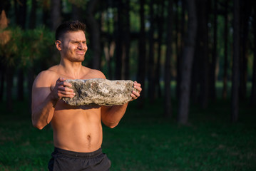
[[86, 9], [86, 24], [90, 30], [90, 44], [93, 51], [93, 69], [101, 68], [101, 28], [95, 19], [93, 11], [96, 11], [98, 0], [88, 2]]

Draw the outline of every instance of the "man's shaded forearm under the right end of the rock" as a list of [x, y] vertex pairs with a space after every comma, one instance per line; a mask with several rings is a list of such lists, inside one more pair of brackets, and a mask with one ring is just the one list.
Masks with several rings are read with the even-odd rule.
[[114, 128], [126, 113], [128, 103], [124, 105], [113, 105], [111, 107], [101, 107], [101, 120], [109, 128]]

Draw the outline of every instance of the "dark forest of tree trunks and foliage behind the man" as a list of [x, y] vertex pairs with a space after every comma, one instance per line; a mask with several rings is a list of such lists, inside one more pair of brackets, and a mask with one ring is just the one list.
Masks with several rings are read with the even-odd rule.
[[87, 26], [83, 64], [110, 80], [141, 83], [134, 110], [155, 106], [160, 118], [181, 125], [192, 122], [193, 106], [206, 113], [223, 108], [226, 123], [239, 123], [245, 108], [255, 115], [256, 1], [1, 0], [0, 11], [6, 113], [19, 102], [29, 108], [34, 78], [60, 60], [56, 27], [79, 20]]

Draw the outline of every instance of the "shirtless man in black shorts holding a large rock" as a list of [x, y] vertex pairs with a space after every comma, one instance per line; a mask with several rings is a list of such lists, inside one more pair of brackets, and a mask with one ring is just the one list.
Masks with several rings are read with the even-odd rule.
[[[126, 112], [124, 105], [71, 106], [61, 98], [73, 98], [71, 84], [66, 79], [106, 78], [101, 71], [82, 66], [87, 51], [85, 25], [68, 21], [56, 30], [56, 48], [61, 53], [57, 66], [39, 73], [32, 89], [32, 123], [43, 129], [48, 123], [53, 128], [54, 152], [49, 170], [109, 170], [111, 161], [101, 151], [102, 125], [114, 128]], [[131, 92], [132, 100], [140, 96]]]

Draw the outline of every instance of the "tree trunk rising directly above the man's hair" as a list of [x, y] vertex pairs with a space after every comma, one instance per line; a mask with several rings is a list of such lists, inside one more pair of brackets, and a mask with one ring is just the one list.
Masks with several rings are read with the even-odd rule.
[[51, 0], [51, 30], [56, 31], [56, 28], [61, 24], [61, 0]]

